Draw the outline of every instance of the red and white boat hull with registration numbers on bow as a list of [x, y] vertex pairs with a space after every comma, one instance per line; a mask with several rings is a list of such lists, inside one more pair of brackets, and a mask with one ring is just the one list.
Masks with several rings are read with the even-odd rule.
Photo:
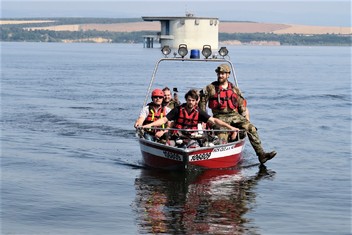
[[242, 160], [245, 140], [214, 147], [178, 148], [139, 139], [145, 165], [161, 169], [229, 168]]

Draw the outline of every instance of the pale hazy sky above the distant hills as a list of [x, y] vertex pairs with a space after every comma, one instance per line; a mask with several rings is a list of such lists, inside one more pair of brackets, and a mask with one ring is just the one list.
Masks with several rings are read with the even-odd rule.
[[220, 20], [256, 21], [321, 26], [351, 26], [351, 1], [326, 0], [225, 0], [225, 1], [1, 1], [1, 18], [141, 16], [218, 17]]

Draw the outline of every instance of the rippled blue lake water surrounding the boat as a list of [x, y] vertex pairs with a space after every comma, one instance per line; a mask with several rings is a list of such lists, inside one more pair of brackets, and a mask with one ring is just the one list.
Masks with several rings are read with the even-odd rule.
[[[230, 46], [266, 150], [238, 169], [143, 167], [133, 124], [160, 50], [1, 43], [2, 234], [351, 234], [351, 48]], [[168, 66], [155, 85], [216, 79]], [[170, 71], [169, 71], [170, 69]]]

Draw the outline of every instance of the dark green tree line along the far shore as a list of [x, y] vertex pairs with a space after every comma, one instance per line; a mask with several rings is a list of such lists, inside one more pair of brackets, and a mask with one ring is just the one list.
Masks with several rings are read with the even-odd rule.
[[[15, 20], [15, 19], [7, 19]], [[18, 19], [17, 19], [18, 20]], [[33, 19], [21, 19], [33, 20]], [[111, 24], [124, 22], [141, 22], [138, 18], [42, 18], [40, 20], [55, 20], [55, 22], [1, 25], [0, 40], [3, 42], [63, 42], [64, 40], [79, 41], [90, 38], [104, 38], [111, 43], [143, 43], [143, 35], [157, 35], [156, 31], [136, 32], [110, 32], [110, 31], [53, 31], [53, 30], [26, 30], [24, 27], [53, 26], [66, 24]], [[274, 33], [219, 33], [219, 41], [240, 41], [250, 43], [252, 41], [275, 41], [280, 45], [303, 45], [303, 46], [351, 46], [351, 35], [323, 34], [323, 35], [301, 35], [301, 34], [274, 34]]]

